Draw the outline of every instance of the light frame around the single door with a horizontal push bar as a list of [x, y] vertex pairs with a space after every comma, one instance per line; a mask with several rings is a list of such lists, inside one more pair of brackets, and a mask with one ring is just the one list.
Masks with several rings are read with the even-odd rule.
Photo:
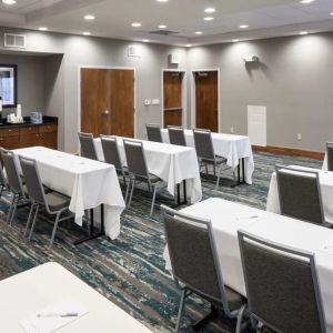
[[185, 69], [164, 69], [161, 70], [161, 127], [164, 128], [164, 72], [182, 73], [182, 127], [188, 128], [188, 72]]

